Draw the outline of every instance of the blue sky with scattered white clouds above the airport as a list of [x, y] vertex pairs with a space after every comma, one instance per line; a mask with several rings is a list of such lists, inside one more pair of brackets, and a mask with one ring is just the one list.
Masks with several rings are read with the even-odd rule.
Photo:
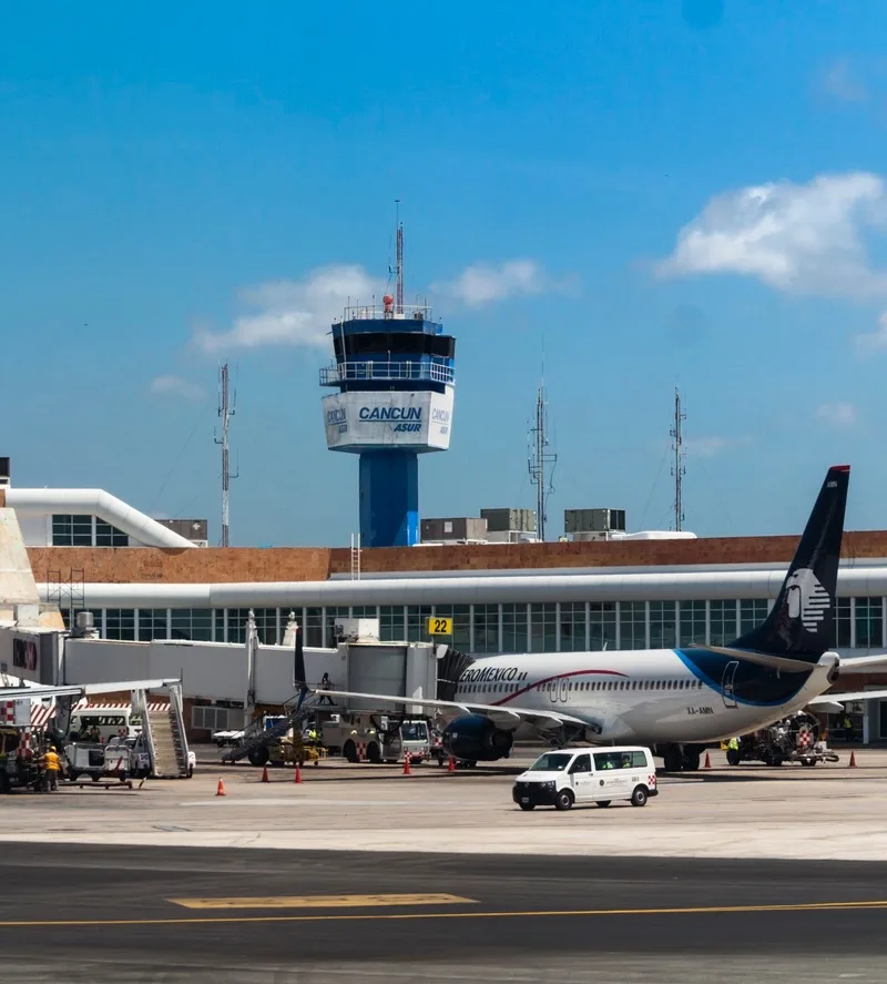
[[[317, 371], [387, 276], [458, 338], [424, 516], [532, 506], [544, 339], [564, 508], [796, 532], [829, 464], [887, 525], [887, 8], [868, 0], [44, 3], [0, 31], [3, 453], [235, 545], [347, 544]], [[368, 300], [368, 298], [367, 298]]]

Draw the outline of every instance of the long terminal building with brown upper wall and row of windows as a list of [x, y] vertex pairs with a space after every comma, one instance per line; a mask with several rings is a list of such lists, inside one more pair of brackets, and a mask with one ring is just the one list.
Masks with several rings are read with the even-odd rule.
[[[89, 610], [101, 638], [122, 641], [241, 643], [252, 610], [272, 646], [290, 612], [308, 647], [334, 645], [345, 618], [377, 619], [381, 641], [430, 641], [432, 616], [451, 618], [447, 641], [472, 656], [716, 645], [766, 615], [797, 544], [797, 535], [611, 530], [357, 557], [347, 548], [201, 548], [201, 521], [176, 531], [102, 491], [7, 486], [0, 497], [20, 520], [42, 601], [69, 626]], [[838, 596], [839, 651], [887, 650], [887, 530], [845, 535]], [[885, 682], [845, 673], [839, 689]], [[849, 717], [855, 737], [887, 741], [887, 701], [852, 707]]]

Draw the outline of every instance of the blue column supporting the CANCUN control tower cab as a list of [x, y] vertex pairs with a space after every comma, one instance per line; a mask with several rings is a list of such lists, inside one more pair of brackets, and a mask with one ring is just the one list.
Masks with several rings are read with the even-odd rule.
[[360, 455], [360, 544], [411, 547], [419, 541], [419, 456], [415, 452]]

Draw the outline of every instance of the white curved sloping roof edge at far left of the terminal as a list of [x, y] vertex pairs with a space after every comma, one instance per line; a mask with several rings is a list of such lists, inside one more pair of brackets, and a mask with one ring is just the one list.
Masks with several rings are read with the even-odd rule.
[[7, 506], [21, 513], [98, 516], [146, 547], [196, 549], [191, 540], [101, 488], [7, 488]]

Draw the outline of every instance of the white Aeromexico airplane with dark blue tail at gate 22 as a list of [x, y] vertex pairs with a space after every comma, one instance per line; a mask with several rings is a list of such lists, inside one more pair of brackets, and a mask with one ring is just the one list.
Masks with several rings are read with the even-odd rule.
[[887, 690], [824, 697], [842, 667], [887, 657], [840, 658], [835, 597], [848, 465], [829, 468], [782, 590], [764, 621], [728, 646], [549, 652], [478, 659], [452, 700], [319, 690], [428, 708], [446, 751], [466, 762], [507, 758], [516, 734], [595, 744], [643, 744], [666, 771], [697, 769], [706, 747], [805, 707], [842, 710]]

